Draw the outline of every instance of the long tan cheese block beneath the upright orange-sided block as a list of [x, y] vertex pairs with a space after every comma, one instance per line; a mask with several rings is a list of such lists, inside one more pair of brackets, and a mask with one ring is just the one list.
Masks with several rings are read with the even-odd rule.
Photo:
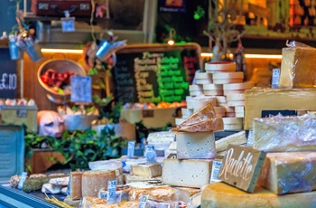
[[263, 110], [316, 110], [316, 89], [246, 90], [245, 101], [245, 129], [251, 129]]

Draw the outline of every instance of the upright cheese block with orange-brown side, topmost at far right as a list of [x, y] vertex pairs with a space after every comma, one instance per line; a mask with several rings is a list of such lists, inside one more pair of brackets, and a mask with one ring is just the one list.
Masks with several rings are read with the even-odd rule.
[[279, 88], [315, 88], [315, 56], [312, 47], [283, 48]]

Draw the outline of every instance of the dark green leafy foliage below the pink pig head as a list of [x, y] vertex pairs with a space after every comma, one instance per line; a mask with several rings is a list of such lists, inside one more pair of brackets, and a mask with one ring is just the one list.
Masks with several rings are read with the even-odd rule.
[[114, 128], [107, 126], [101, 130], [100, 135], [97, 135], [96, 130], [76, 130], [73, 132], [65, 130], [61, 138], [42, 137], [36, 133], [28, 132], [24, 139], [26, 158], [31, 158], [33, 148], [41, 148], [42, 144], [45, 143], [46, 147], [60, 152], [65, 158], [61, 164], [69, 164], [72, 170], [88, 168], [90, 161], [119, 157], [121, 156], [121, 149], [127, 145], [125, 138], [117, 137]]

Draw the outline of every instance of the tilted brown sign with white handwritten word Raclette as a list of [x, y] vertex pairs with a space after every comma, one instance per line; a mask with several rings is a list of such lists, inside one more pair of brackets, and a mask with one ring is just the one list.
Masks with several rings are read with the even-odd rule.
[[218, 179], [253, 193], [265, 155], [265, 152], [252, 147], [229, 145], [219, 169]]

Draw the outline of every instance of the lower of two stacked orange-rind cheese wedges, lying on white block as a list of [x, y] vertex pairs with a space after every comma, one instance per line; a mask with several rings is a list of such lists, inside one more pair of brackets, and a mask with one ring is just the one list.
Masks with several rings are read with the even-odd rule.
[[210, 118], [209, 120], [202, 121], [197, 124], [193, 124], [191, 126], [173, 128], [173, 130], [174, 129], [177, 129], [177, 131], [181, 131], [181, 132], [221, 131], [224, 129], [224, 122], [223, 122], [223, 118], [216, 117], [216, 118]]

